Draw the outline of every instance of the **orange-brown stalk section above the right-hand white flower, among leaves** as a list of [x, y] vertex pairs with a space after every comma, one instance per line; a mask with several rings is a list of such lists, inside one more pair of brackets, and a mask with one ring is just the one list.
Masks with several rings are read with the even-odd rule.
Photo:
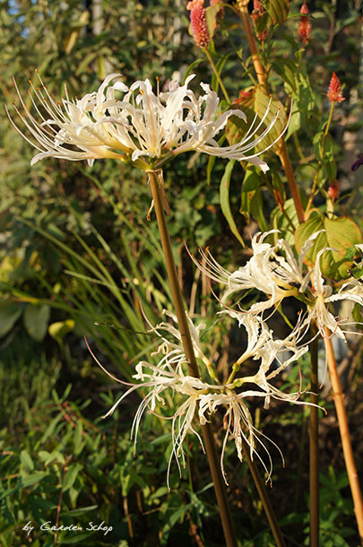
[[[266, 93], [269, 92], [268, 89], [268, 82], [266, 79], [266, 74], [264, 72], [264, 67], [261, 64], [260, 57], [258, 55], [258, 49], [255, 43], [255, 37], [254, 33], [252, 31], [250, 16], [248, 13], [248, 0], [239, 0], [237, 4], [238, 9], [238, 15], [240, 17], [240, 20], [243, 24], [243, 27], [246, 32], [246, 39], [248, 42], [248, 47], [250, 48], [251, 55], [252, 55], [252, 62], [255, 67], [255, 74], [257, 76], [258, 83], [264, 87], [264, 91]], [[288, 179], [288, 184], [290, 187], [291, 197], [295, 204], [295, 209], [298, 215], [298, 222], [301, 224], [304, 222], [304, 209], [301, 204], [300, 195], [298, 194], [298, 186], [295, 180], [294, 171], [291, 166], [289, 152], [286, 148], [285, 139], [283, 135], [281, 136], [279, 148], [277, 151], [277, 154], [280, 158], [282, 168], [284, 169], [286, 173], [286, 177]]]

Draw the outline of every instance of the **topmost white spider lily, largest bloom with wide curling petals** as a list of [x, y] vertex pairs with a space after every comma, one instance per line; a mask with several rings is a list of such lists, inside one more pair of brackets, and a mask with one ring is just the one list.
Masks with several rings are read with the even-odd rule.
[[30, 97], [37, 117], [27, 109], [15, 83], [22, 104], [22, 109], [16, 111], [35, 142], [23, 135], [9, 117], [19, 133], [39, 150], [31, 163], [48, 156], [87, 160], [90, 164], [98, 158], [116, 158], [133, 161], [136, 167], [148, 170], [160, 168], [173, 155], [196, 151], [246, 160], [264, 171], [269, 169], [257, 156], [278, 139], [264, 151], [248, 155], [264, 140], [278, 117], [276, 114], [261, 135], [254, 138], [256, 131], [264, 126], [269, 108], [260, 122], [255, 117], [240, 143], [219, 146], [215, 137], [229, 117], [246, 121], [246, 116], [238, 109], [229, 109], [218, 116], [220, 100], [209, 85], [201, 83], [204, 94], [199, 99], [188, 89], [194, 74], [186, 78], [184, 85], [172, 81], [169, 91], [156, 94], [149, 80], [127, 87], [120, 78], [121, 74], [109, 74], [98, 91], [87, 93], [82, 99], [70, 99], [65, 90], [65, 99], [57, 103], [39, 77], [40, 88], [30, 82]]

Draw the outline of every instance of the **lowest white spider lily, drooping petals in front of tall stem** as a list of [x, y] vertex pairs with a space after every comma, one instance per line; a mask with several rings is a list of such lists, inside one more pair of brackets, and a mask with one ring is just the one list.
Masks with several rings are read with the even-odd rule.
[[[220, 456], [220, 465], [225, 481], [227, 482], [223, 460], [229, 437], [233, 438], [238, 458], [241, 461], [244, 439], [250, 447], [251, 457], [253, 458], [255, 454], [264, 465], [268, 476], [271, 477], [271, 456], [259, 438], [259, 436], [264, 437], [264, 435], [255, 430], [251, 413], [248, 410], [247, 400], [252, 397], [263, 399], [264, 408], [269, 407], [272, 398], [294, 404], [304, 404], [298, 401], [300, 393], [283, 393], [277, 387], [272, 386], [271, 380], [286, 369], [291, 362], [298, 360], [301, 355], [307, 352], [307, 346], [298, 347], [298, 335], [295, 331], [286, 340], [273, 340], [272, 330], [264, 324], [261, 317], [239, 315], [237, 317], [238, 324], [246, 329], [246, 349], [232, 366], [233, 378], [230, 376], [226, 384], [210, 383], [205, 379], [194, 378], [185, 373], [187, 361], [181, 335], [177, 329], [177, 317], [170, 312], [165, 311], [165, 313], [172, 319], [173, 324], [163, 322], [158, 326], [151, 327], [151, 332], [157, 334], [161, 339], [157, 352], [152, 354], [156, 358], [160, 356], [159, 362], [156, 365], [147, 361], [138, 363], [134, 379], [139, 383], [130, 386], [106, 416], [112, 414], [127, 395], [138, 388], [143, 388], [143, 401], [134, 416], [132, 426], [132, 438], [134, 438], [134, 446], [136, 446], [136, 438], [143, 412], [152, 412], [160, 416], [156, 413], [157, 405], [165, 405], [163, 394], [166, 390], [169, 390], [169, 393], [175, 395], [173, 398], [175, 406], [170, 410], [169, 415], [160, 416], [160, 418], [172, 422], [173, 450], [169, 459], [168, 485], [173, 456], [177, 460], [179, 471], [181, 471], [181, 468], [178, 458], [181, 458], [182, 465], [185, 465], [183, 441], [186, 434], [193, 433], [196, 435], [203, 447], [202, 438], [196, 430], [197, 424], [199, 422], [204, 425], [207, 421], [210, 421], [212, 414], [218, 411], [224, 412], [223, 423], [226, 429]], [[211, 362], [203, 352], [200, 340], [201, 331], [205, 326], [203, 324], [194, 326], [190, 317], [188, 317], [188, 322], [191, 327], [195, 356], [197, 360], [200, 360], [202, 367], [204, 365], [203, 378], [207, 378], [208, 367], [211, 366]], [[172, 336], [171, 341], [169, 340], [170, 334]], [[253, 360], [256, 363], [258, 361], [255, 367], [255, 375], [241, 375], [241, 367], [246, 360]], [[277, 366], [274, 366], [274, 361]], [[264, 460], [256, 452], [256, 443], [260, 443], [264, 447], [270, 462], [269, 469], [266, 468]], [[272, 444], [274, 445], [273, 442]]]

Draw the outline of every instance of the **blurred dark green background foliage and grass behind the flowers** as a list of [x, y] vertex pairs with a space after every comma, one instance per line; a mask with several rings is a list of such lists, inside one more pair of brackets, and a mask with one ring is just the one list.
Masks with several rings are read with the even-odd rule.
[[[284, 101], [287, 93], [294, 99], [288, 144], [302, 192], [318, 168], [323, 195], [329, 179], [337, 176], [342, 214], [357, 213], [359, 171], [353, 177], [350, 163], [362, 152], [360, 6], [359, 2], [327, 1], [308, 5], [313, 39], [304, 59], [297, 38], [297, 2], [291, 3], [288, 20], [269, 30], [266, 47], [273, 44], [273, 50], [266, 50], [266, 56], [272, 58], [272, 82], [279, 99]], [[201, 62], [194, 66], [196, 80], [212, 82], [218, 89], [206, 59], [188, 34], [186, 5], [181, 0], [143, 4], [134, 0], [2, 1], [0, 18], [0, 99], [8, 105], [19, 103], [12, 76], [26, 98], [27, 80], [34, 78], [35, 68], [54, 95], [62, 96], [67, 82], [70, 95], [82, 96], [111, 72], [124, 74], [125, 82], [145, 77], [154, 81], [158, 76], [162, 84], [183, 77], [197, 58]], [[249, 60], [238, 18], [227, 6], [214, 35], [214, 48], [223, 81], [237, 100], [238, 92], [251, 86]], [[237, 65], [244, 67], [239, 79]], [[327, 117], [324, 92], [333, 70], [345, 83], [347, 100], [336, 114], [331, 161], [317, 166], [312, 165], [313, 139]], [[87, 336], [108, 369], [130, 379], [134, 365], [150, 355], [155, 344], [145, 334], [141, 308], [152, 324], [160, 320], [162, 308], [169, 308], [156, 224], [146, 221], [151, 197], [143, 174], [120, 168], [115, 161], [96, 161], [92, 169], [78, 162], [42, 161], [30, 169], [34, 151], [14, 132], [4, 111], [0, 139], [0, 379], [4, 386], [0, 541], [9, 547], [56, 542], [120, 547], [219, 545], [217, 508], [199, 447], [188, 445], [183, 479], [173, 468], [168, 492], [165, 475], [171, 434], [166, 422], [146, 417], [134, 457], [129, 431], [139, 395], [112, 419], [102, 421], [118, 387], [98, 369], [82, 338]], [[254, 169], [244, 173], [239, 166], [231, 175], [230, 214], [246, 240], [249, 231], [255, 230], [255, 221], [261, 229], [269, 228], [266, 218], [273, 204], [268, 185], [282, 187], [283, 182], [277, 159], [271, 162], [273, 180], [268, 175], [261, 182]], [[175, 161], [166, 177], [187, 304], [208, 322], [207, 338], [213, 343], [221, 374], [228, 355], [238, 352], [241, 342], [238, 333], [227, 335], [214, 321], [216, 304], [208, 296], [205, 280], [195, 296], [197, 279], [183, 241], [192, 250], [212, 245], [221, 263], [240, 264], [241, 247], [238, 239], [232, 239], [220, 209], [224, 168], [223, 161], [208, 165], [194, 155]], [[325, 204], [317, 200], [315, 206]], [[275, 219], [276, 225], [284, 226], [277, 210]], [[355, 426], [353, 441], [363, 455], [359, 358], [350, 365], [350, 421]], [[289, 375], [285, 381], [292, 388], [298, 380]], [[333, 409], [329, 399], [326, 407]], [[301, 545], [307, 541], [308, 524], [307, 416], [273, 404], [268, 414], [257, 412], [257, 420], [284, 452], [285, 470], [274, 455], [272, 504], [279, 508], [288, 544]], [[221, 421], [217, 430], [222, 432]], [[322, 544], [353, 545], [348, 482], [336, 448], [338, 432], [329, 427], [329, 417], [323, 421], [322, 445]], [[232, 448], [226, 460], [238, 541], [243, 547], [273, 545], [245, 465], [239, 465]], [[65, 532], [55, 539], [37, 527], [30, 535], [22, 530], [29, 521], [55, 524], [58, 509], [60, 523], [82, 525], [83, 532]], [[89, 522], [102, 521], [113, 526], [111, 533], [85, 531]]]

